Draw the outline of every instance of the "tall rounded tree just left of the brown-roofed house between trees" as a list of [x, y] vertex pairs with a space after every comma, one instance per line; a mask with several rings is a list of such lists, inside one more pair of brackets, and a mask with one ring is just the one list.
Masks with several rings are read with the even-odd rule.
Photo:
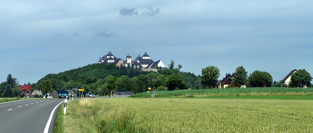
[[219, 69], [214, 66], [207, 66], [206, 68], [202, 68], [200, 81], [204, 86], [208, 88], [215, 87], [218, 82], [218, 77], [220, 75]]

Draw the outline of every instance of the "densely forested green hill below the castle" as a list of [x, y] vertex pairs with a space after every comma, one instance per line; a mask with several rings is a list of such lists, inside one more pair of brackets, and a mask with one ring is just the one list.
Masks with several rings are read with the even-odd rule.
[[82, 68], [71, 69], [59, 74], [48, 74], [36, 84], [33, 84], [32, 90], [38, 89], [37, 86], [41, 81], [49, 79], [52, 83], [52, 88], [56, 91], [59, 91], [61, 88], [79, 88], [79, 84], [81, 84], [86, 92], [103, 94], [105, 87], [102, 85], [105, 84], [106, 78], [115, 76], [119, 82], [117, 91], [135, 91], [137, 93], [146, 91], [148, 87], [165, 86], [164, 81], [171, 74], [181, 75], [182, 80], [186, 81], [186, 87], [183, 88], [199, 87], [200, 81], [198, 76], [190, 72], [180, 72], [180, 68], [158, 69], [157, 73], [152, 71], [144, 72], [139, 68], [130, 66], [117, 67], [115, 64], [89, 64]]

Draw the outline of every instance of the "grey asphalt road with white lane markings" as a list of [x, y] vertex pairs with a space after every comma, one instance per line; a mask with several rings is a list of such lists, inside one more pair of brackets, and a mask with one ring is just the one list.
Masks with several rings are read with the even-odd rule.
[[[63, 101], [64, 99], [26, 99], [0, 103], [0, 133], [43, 133], [45, 128], [52, 133], [58, 104]], [[53, 116], [49, 124], [51, 114]]]

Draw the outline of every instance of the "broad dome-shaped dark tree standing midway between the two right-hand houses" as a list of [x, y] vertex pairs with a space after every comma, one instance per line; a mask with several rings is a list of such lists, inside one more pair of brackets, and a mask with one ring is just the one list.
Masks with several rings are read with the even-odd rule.
[[255, 70], [249, 76], [250, 87], [271, 87], [272, 82], [273, 78], [268, 72]]

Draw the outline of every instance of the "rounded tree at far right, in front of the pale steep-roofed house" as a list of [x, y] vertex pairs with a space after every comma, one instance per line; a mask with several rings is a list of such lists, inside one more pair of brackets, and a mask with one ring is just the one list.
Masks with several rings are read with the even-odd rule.
[[291, 74], [290, 80], [290, 87], [304, 88], [310, 87], [312, 77], [305, 69], [299, 69], [298, 72]]

